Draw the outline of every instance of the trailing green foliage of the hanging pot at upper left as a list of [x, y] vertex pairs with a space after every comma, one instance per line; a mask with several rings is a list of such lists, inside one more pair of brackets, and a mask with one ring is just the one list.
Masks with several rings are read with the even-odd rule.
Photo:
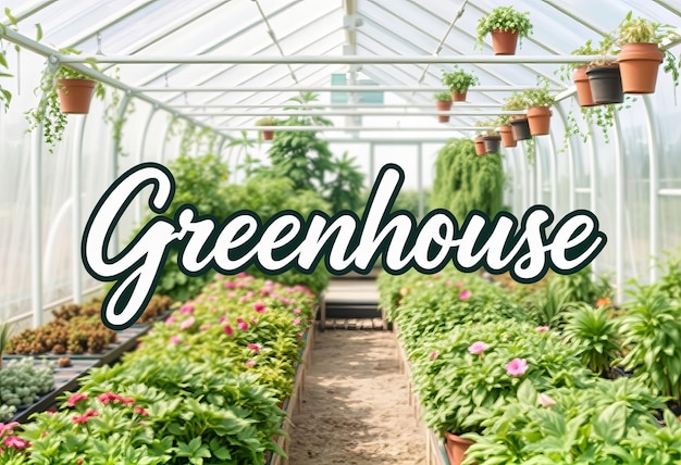
[[[79, 54], [78, 50], [65, 48], [59, 50], [60, 54]], [[87, 64], [95, 71], [99, 71], [96, 61], [88, 60]], [[54, 147], [62, 140], [66, 129], [66, 115], [61, 112], [59, 105], [59, 92], [57, 79], [90, 79], [88, 76], [60, 64], [48, 63], [40, 77], [40, 83], [35, 92], [40, 97], [38, 105], [26, 112], [28, 130], [35, 130], [42, 125], [42, 138], [48, 146], [50, 153], [54, 152]], [[95, 96], [100, 100], [104, 99], [104, 87], [101, 83], [95, 86]]]

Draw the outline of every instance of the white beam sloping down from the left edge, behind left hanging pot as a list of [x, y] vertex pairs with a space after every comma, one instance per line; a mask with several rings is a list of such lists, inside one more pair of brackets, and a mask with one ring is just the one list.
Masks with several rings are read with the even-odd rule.
[[[0, 37], [4, 37], [7, 40], [16, 43], [17, 46], [25, 48], [27, 50], [30, 50], [37, 54], [40, 54], [42, 56], [46, 56], [50, 62], [52, 63], [63, 63], [65, 60], [65, 55], [60, 54], [59, 52], [57, 52], [55, 50], [51, 49], [50, 47], [47, 47], [42, 43], [39, 43], [33, 39], [29, 39], [28, 37], [25, 37], [21, 34], [17, 34], [13, 30], [5, 30], [2, 34], [0, 34]], [[194, 120], [191, 116], [184, 114], [184, 113], [178, 113], [176, 109], [173, 109], [171, 105], [153, 99], [149, 96], [147, 96], [146, 93], [141, 93], [141, 92], [137, 92], [135, 91], [134, 88], [132, 88], [131, 86], [126, 85], [125, 83], [122, 83], [117, 79], [114, 79], [111, 76], [108, 76], [103, 73], [97, 72], [95, 70], [92, 70], [90, 66], [86, 66], [84, 64], [79, 64], [79, 63], [69, 63], [69, 67], [72, 67], [73, 70], [84, 74], [85, 76], [89, 76], [102, 84], [106, 84], [108, 86], [114, 87], [116, 89], [121, 89], [124, 90], [125, 92], [129, 92], [132, 95], [134, 95], [135, 97], [137, 97], [140, 100], [144, 100], [152, 105], [154, 105], [156, 108], [160, 108], [162, 110], [165, 110], [170, 113], [173, 114], [177, 114], [178, 116], [200, 126], [200, 127], [206, 127], [209, 130], [213, 130], [215, 131], [215, 128], [209, 125], [205, 125], [201, 122], [198, 122], [196, 120]]]

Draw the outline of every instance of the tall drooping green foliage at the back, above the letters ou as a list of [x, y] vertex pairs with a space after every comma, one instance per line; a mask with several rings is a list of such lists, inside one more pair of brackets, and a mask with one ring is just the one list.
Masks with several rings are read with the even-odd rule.
[[503, 206], [504, 172], [498, 154], [475, 155], [472, 140], [451, 139], [435, 161], [432, 209], [450, 211], [462, 224], [473, 210], [493, 218]]

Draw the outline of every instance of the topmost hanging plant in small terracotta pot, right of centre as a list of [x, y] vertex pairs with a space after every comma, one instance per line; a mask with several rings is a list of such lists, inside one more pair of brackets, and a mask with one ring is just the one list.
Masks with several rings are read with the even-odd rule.
[[478, 45], [482, 48], [483, 39], [492, 34], [492, 47], [496, 55], [516, 54], [519, 39], [532, 32], [530, 12], [519, 12], [512, 7], [498, 7], [483, 16], [478, 23]]

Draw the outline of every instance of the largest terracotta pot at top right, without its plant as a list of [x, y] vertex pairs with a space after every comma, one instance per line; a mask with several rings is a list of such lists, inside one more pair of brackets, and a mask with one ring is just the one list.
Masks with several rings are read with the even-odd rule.
[[665, 55], [657, 43], [626, 43], [617, 55], [624, 93], [653, 93]]

